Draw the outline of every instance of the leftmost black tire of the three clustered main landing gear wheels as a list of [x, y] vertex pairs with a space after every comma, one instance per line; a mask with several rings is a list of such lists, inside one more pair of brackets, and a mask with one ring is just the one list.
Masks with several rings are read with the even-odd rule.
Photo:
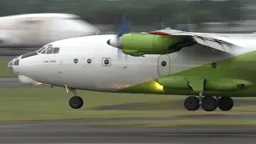
[[198, 110], [200, 107], [199, 99], [197, 97], [190, 96], [185, 99], [184, 106], [186, 110], [190, 110], [190, 111]]

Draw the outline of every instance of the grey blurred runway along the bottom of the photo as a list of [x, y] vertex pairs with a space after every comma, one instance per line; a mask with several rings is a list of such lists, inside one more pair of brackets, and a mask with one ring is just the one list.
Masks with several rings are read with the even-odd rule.
[[0, 142], [247, 144], [256, 140], [256, 128], [87, 127], [80, 121], [2, 123]]

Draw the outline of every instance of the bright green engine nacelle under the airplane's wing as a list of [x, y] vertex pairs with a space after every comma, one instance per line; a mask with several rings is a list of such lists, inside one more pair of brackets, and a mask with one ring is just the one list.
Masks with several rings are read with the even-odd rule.
[[[144, 54], [170, 54], [184, 47], [190, 39], [178, 36], [154, 34], [124, 34], [122, 36], [122, 52], [132, 56]], [[185, 44], [185, 45], [184, 45]]]

